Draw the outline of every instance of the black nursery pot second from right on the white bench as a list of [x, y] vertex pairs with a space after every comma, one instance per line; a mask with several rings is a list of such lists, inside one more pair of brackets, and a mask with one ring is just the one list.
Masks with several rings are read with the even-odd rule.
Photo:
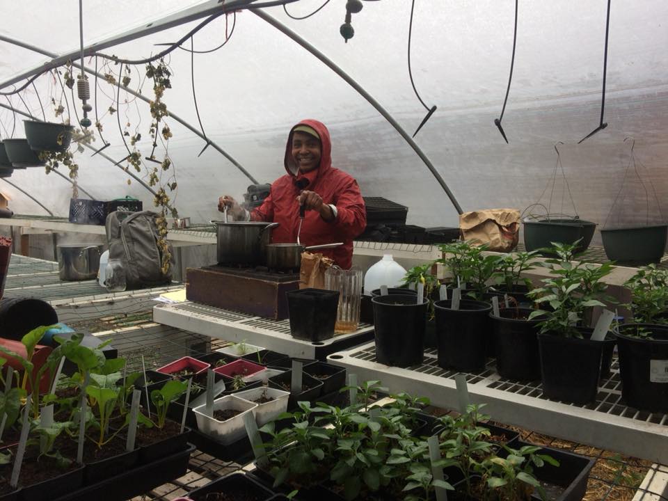
[[539, 334], [543, 395], [587, 404], [596, 398], [603, 342]]

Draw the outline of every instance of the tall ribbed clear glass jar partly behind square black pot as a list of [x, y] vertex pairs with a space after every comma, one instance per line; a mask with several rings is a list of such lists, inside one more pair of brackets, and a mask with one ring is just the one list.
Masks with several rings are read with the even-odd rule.
[[325, 289], [339, 292], [339, 308], [336, 313], [336, 333], [357, 331], [360, 322], [362, 300], [362, 269], [349, 270], [333, 266], [325, 271]]

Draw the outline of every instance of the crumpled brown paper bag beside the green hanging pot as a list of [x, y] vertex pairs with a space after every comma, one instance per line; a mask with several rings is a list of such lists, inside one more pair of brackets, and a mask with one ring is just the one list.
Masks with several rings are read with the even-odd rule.
[[520, 238], [520, 211], [483, 209], [465, 212], [459, 215], [459, 229], [466, 241], [488, 244], [489, 250], [510, 252]]

